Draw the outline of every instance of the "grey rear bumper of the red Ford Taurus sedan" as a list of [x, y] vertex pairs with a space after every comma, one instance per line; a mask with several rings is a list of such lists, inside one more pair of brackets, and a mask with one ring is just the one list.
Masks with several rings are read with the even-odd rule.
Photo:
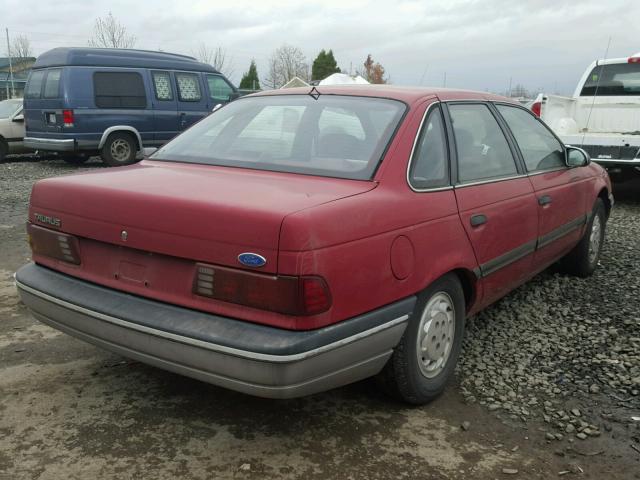
[[415, 297], [313, 331], [289, 331], [136, 297], [29, 264], [16, 273], [34, 317], [99, 347], [231, 390], [293, 398], [378, 373]]

